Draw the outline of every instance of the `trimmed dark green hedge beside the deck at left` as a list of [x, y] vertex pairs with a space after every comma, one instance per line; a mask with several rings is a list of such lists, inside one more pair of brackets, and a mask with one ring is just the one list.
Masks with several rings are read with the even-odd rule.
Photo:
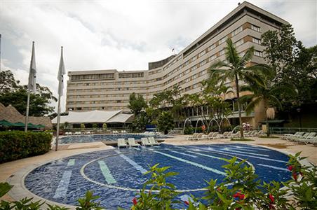
[[51, 141], [45, 132], [0, 132], [0, 163], [47, 153]]

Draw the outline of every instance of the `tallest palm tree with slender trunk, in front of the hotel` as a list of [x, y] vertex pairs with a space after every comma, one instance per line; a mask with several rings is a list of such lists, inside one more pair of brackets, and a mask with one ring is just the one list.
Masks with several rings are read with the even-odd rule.
[[236, 97], [238, 102], [238, 115], [240, 123], [240, 134], [243, 137], [242, 118], [241, 118], [241, 102], [240, 102], [240, 88], [239, 80], [245, 80], [252, 77], [253, 74], [257, 74], [257, 71], [262, 70], [262, 66], [247, 66], [248, 62], [252, 59], [254, 47], [252, 46], [245, 51], [245, 54], [241, 57], [231, 39], [227, 39], [227, 46], [225, 48], [225, 61], [216, 61], [210, 66], [210, 77], [213, 77], [213, 73], [220, 73], [222, 83], [226, 80], [234, 80], [236, 84]]

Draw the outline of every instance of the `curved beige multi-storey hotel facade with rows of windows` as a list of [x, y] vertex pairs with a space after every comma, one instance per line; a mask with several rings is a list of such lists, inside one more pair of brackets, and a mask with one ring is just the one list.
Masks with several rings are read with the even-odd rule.
[[[255, 47], [250, 64], [265, 63], [261, 35], [268, 30], [279, 30], [285, 20], [248, 2], [241, 3], [215, 26], [198, 37], [177, 55], [158, 62], [150, 62], [144, 71], [69, 71], [67, 83], [66, 111], [128, 110], [128, 99], [132, 92], [142, 94], [149, 101], [154, 94], [179, 85], [182, 94], [201, 92], [201, 81], [208, 78], [208, 68], [217, 59], [225, 59], [224, 48], [231, 38], [238, 52], [243, 55], [251, 46]], [[228, 95], [234, 112], [230, 118], [238, 117], [235, 96]], [[195, 109], [187, 109], [186, 116], [197, 120]], [[264, 118], [264, 109], [258, 106], [244, 121], [253, 126]]]

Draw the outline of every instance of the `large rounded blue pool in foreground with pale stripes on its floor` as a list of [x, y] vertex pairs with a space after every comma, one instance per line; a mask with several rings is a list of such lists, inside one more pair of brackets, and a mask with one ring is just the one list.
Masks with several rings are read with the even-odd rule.
[[[286, 181], [290, 172], [286, 169], [288, 156], [268, 148], [245, 144], [217, 144], [171, 146], [162, 144], [147, 148], [121, 148], [120, 150], [83, 153], [55, 160], [27, 174], [25, 186], [39, 197], [64, 204], [76, 204], [86, 190], [100, 196], [102, 207], [128, 209], [137, 190], [149, 176], [144, 176], [149, 166], [171, 166], [180, 174], [170, 177], [186, 199], [190, 194], [202, 197], [205, 180], [224, 178], [220, 158], [248, 158], [255, 173], [263, 181]], [[185, 207], [184, 203], [177, 208]]]

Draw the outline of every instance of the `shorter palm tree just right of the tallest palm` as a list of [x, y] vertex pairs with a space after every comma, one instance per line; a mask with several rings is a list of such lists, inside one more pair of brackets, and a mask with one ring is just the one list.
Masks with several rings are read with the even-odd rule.
[[[281, 102], [276, 97], [278, 93], [292, 93], [296, 94], [294, 87], [289, 84], [276, 85], [272, 81], [276, 77], [276, 71], [267, 67], [267, 71], [259, 73], [252, 78], [246, 78], [248, 85], [241, 86], [241, 91], [248, 91], [249, 94], [245, 94], [241, 97], [241, 102], [249, 102], [245, 108], [245, 112], [249, 114], [255, 109], [259, 103], [264, 102], [264, 110], [278, 106], [282, 109]], [[269, 122], [267, 113], [265, 115], [265, 122], [267, 125], [267, 137], [269, 137]]]

